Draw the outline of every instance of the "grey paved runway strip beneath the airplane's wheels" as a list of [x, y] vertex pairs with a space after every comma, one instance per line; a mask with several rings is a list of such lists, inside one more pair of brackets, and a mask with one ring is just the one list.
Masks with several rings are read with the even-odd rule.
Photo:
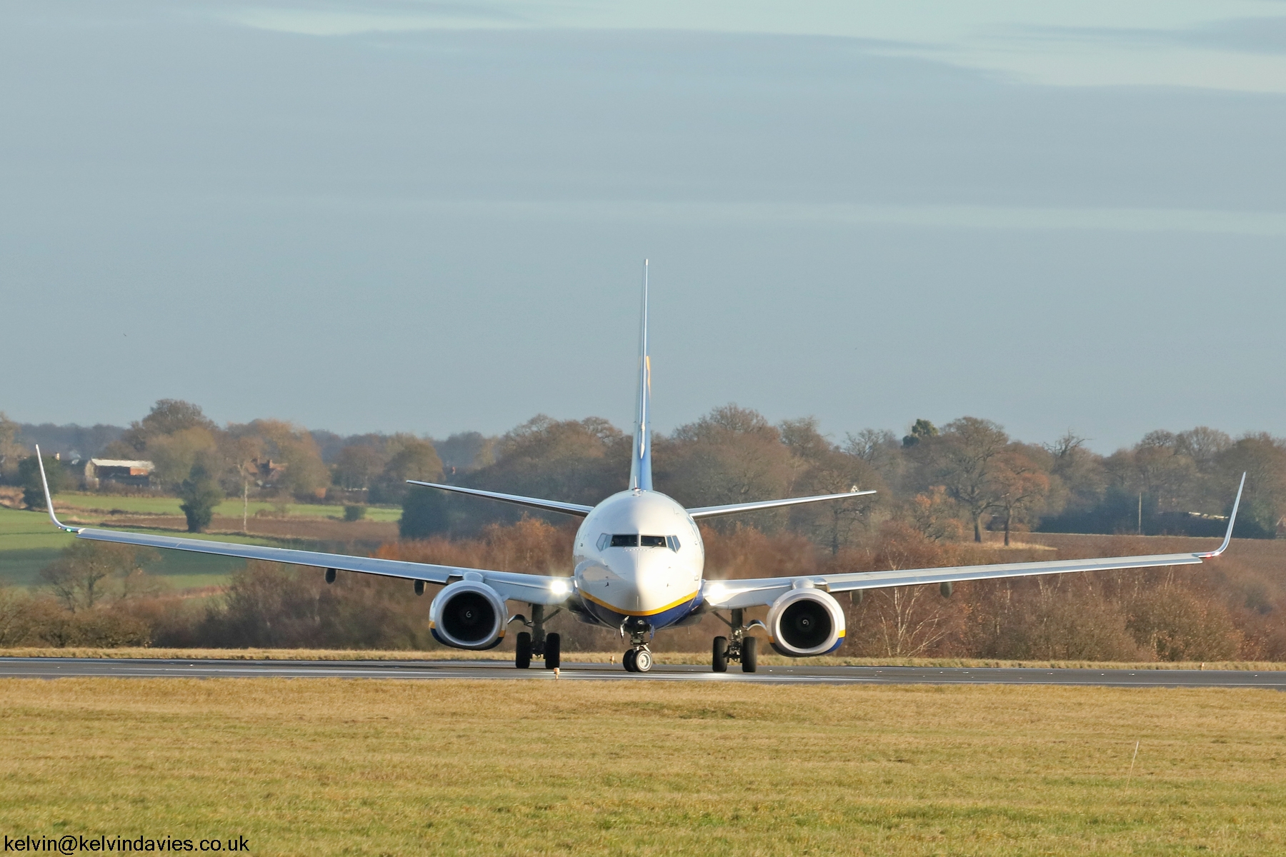
[[[108, 658], [0, 658], [0, 677], [66, 678], [509, 678], [554, 681], [553, 671], [514, 669], [498, 660], [143, 660]], [[648, 673], [620, 664], [567, 663], [562, 681], [738, 681], [795, 685], [1106, 685], [1112, 687], [1265, 687], [1286, 690], [1286, 671], [1008, 669], [937, 667], [760, 667], [658, 664]]]

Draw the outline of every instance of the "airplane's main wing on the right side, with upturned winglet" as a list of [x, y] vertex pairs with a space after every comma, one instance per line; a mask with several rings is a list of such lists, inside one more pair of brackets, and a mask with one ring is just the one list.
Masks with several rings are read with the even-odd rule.
[[804, 574], [799, 577], [765, 577], [739, 581], [706, 581], [702, 596], [709, 609], [766, 606], [792, 588], [814, 586], [827, 592], [851, 592], [886, 586], [917, 586], [922, 583], [954, 583], [958, 581], [985, 581], [1001, 577], [1031, 577], [1035, 574], [1067, 574], [1071, 572], [1102, 572], [1112, 569], [1160, 568], [1165, 565], [1193, 565], [1228, 549], [1232, 526], [1241, 505], [1241, 490], [1246, 475], [1241, 475], [1237, 499], [1228, 518], [1228, 532], [1218, 549], [1204, 554], [1154, 554], [1148, 556], [1106, 556], [1100, 559], [1065, 559], [1043, 563], [1003, 563], [999, 565], [957, 565], [952, 568], [913, 568], [889, 572], [855, 572], [847, 574]]

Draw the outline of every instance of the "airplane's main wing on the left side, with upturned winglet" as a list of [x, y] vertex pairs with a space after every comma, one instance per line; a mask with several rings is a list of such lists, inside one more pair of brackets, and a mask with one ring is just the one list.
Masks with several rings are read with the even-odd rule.
[[[36, 450], [40, 460], [40, 450]], [[44, 461], [40, 461], [40, 475], [45, 477]], [[54, 514], [54, 501], [49, 495], [49, 481], [45, 479], [45, 508], [49, 518], [59, 529], [76, 533], [77, 538], [116, 542], [118, 545], [138, 545], [140, 547], [163, 547], [167, 550], [186, 550], [197, 554], [219, 556], [238, 556], [242, 559], [261, 559], [269, 563], [289, 563], [293, 565], [316, 565], [361, 574], [400, 577], [426, 583], [450, 583], [460, 579], [480, 579], [504, 599], [527, 601], [529, 604], [562, 604], [571, 595], [571, 577], [552, 577], [543, 574], [522, 574], [518, 572], [493, 572], [482, 568], [460, 568], [455, 565], [431, 565], [427, 563], [408, 563], [396, 559], [377, 559], [373, 556], [350, 556], [346, 554], [325, 554], [320, 551], [292, 550], [287, 547], [266, 547], [262, 545], [238, 545], [235, 542], [206, 541], [203, 538], [184, 538], [179, 536], [152, 536], [148, 533], [120, 532], [114, 529], [95, 529], [91, 527], [69, 527]]]

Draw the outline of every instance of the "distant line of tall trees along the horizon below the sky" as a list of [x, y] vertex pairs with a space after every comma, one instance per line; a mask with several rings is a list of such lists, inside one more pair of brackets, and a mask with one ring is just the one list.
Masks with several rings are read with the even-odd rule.
[[[0, 478], [19, 483], [28, 505], [42, 502], [35, 460], [17, 424], [0, 415]], [[210, 522], [226, 496], [293, 497], [349, 505], [401, 504], [404, 537], [475, 537], [521, 510], [490, 501], [408, 490], [406, 479], [594, 504], [621, 490], [629, 436], [607, 420], [536, 416], [498, 438], [476, 432], [445, 441], [412, 434], [341, 437], [280, 420], [216, 425], [201, 407], [162, 400], [103, 451], [148, 459], [162, 490], [184, 499], [189, 528]], [[1241, 473], [1246, 496], [1237, 536], [1271, 538], [1286, 514], [1286, 439], [1238, 438], [1197, 427], [1156, 430], [1103, 456], [1073, 433], [1025, 443], [986, 419], [963, 416], [941, 428], [916, 420], [901, 437], [863, 429], [823, 436], [813, 419], [769, 423], [727, 405], [653, 438], [656, 487], [689, 506], [854, 486], [878, 493], [860, 501], [764, 513], [739, 523], [800, 533], [838, 552], [883, 520], [935, 541], [985, 531], [1191, 535], [1220, 533]], [[50, 464], [63, 486], [72, 478]], [[557, 523], [557, 517], [548, 517]], [[724, 522], [732, 527], [738, 522]]]

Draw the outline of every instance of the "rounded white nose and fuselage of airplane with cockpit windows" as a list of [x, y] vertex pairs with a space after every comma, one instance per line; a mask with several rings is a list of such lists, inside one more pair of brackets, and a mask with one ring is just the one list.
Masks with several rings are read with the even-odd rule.
[[583, 606], [608, 627], [639, 617], [662, 628], [701, 603], [701, 532], [664, 493], [621, 491], [594, 506], [576, 531], [574, 560]]

